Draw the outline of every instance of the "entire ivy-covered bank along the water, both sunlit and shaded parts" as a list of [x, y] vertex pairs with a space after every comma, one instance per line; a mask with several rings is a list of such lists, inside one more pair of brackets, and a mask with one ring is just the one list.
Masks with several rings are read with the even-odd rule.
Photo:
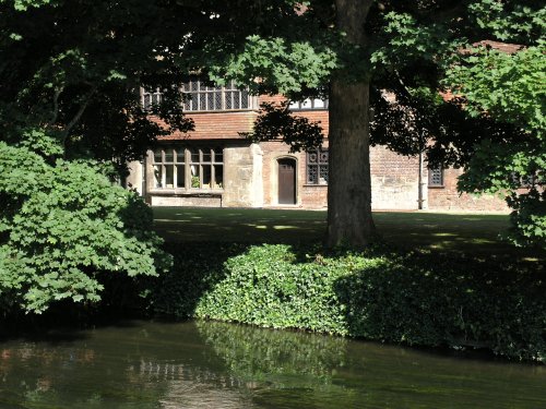
[[175, 267], [156, 281], [156, 313], [546, 358], [546, 285], [532, 264], [383, 248], [170, 245]]

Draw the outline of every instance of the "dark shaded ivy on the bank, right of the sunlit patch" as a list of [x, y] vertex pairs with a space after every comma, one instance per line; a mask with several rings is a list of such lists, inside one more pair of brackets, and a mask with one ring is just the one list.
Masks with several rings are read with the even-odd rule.
[[385, 254], [334, 286], [354, 337], [523, 359], [546, 352], [546, 282], [536, 266]]

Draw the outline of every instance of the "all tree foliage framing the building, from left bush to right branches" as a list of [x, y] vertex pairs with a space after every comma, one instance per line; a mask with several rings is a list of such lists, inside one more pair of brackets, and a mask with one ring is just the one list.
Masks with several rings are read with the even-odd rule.
[[[363, 22], [366, 47], [348, 44], [335, 19], [328, 0], [1, 0], [2, 302], [43, 311], [96, 300], [98, 272], [165, 268], [145, 207], [111, 180], [158, 135], [191, 129], [173, 86], [191, 75], [290, 99], [327, 96], [340, 72], [369, 80], [376, 143], [464, 166], [461, 189], [508, 196], [519, 243], [544, 240], [545, 8], [377, 1]], [[523, 47], [462, 52], [484, 39]], [[151, 112], [140, 85], [164, 94]], [[438, 97], [442, 88], [459, 98]], [[295, 148], [320, 141], [317, 124], [277, 119]], [[520, 194], [524, 175], [534, 188]]]

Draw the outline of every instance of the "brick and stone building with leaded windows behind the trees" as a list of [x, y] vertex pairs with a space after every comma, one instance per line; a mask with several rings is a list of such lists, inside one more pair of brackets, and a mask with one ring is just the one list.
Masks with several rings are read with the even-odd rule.
[[[290, 153], [281, 141], [251, 143], [250, 132], [262, 101], [281, 97], [251, 96], [233, 84], [183, 85], [191, 95], [185, 111], [194, 121], [189, 133], [162, 137], [159, 148], [143, 163], [130, 164], [128, 183], [153, 206], [325, 208], [328, 139], [313, 152]], [[142, 104], [161, 98], [141, 93]], [[328, 103], [295, 103], [299, 116], [320, 121], [328, 135]], [[427, 169], [418, 157], [404, 157], [383, 147], [371, 148], [373, 209], [506, 210], [498, 197], [456, 192], [456, 169]], [[419, 170], [420, 169], [420, 170]], [[419, 178], [420, 173], [420, 178]], [[419, 184], [422, 193], [419, 194]]]

